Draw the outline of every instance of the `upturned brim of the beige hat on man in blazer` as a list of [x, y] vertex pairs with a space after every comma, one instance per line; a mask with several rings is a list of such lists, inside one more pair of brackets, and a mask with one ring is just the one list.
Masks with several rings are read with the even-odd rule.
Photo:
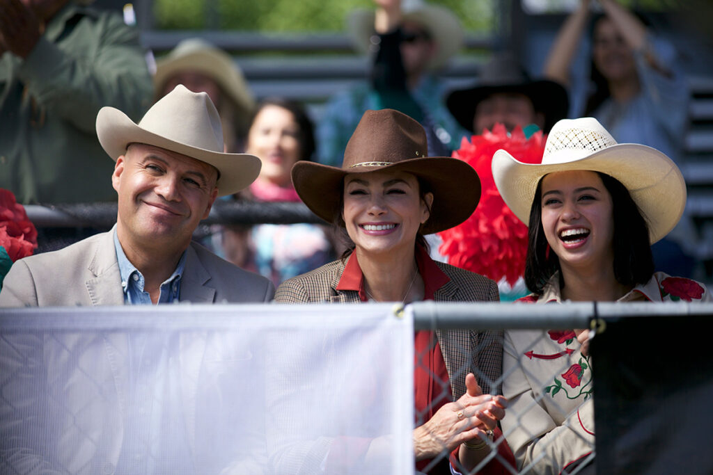
[[218, 196], [239, 192], [255, 181], [260, 174], [260, 159], [243, 153], [222, 153], [192, 147], [149, 132], [136, 125], [116, 108], [101, 108], [96, 117], [96, 134], [106, 153], [116, 162], [126, 153], [130, 143], [153, 145], [186, 155], [215, 167], [220, 172]]

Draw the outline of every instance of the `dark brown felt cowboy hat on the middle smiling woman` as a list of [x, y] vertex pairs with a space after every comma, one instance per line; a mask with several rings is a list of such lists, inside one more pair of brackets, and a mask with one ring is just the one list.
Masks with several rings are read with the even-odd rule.
[[344, 190], [344, 177], [389, 169], [414, 174], [434, 194], [431, 216], [421, 232], [431, 234], [465, 221], [478, 206], [481, 181], [462, 160], [428, 155], [426, 132], [419, 122], [393, 109], [367, 110], [344, 150], [342, 167], [297, 162], [292, 183], [304, 204], [333, 222]]

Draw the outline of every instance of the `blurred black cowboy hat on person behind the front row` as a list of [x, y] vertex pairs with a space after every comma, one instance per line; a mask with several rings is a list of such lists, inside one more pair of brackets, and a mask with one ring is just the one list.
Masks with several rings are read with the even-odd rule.
[[481, 100], [496, 93], [520, 93], [533, 103], [535, 112], [545, 115], [543, 130], [548, 132], [555, 122], [567, 117], [570, 106], [567, 90], [552, 80], [533, 80], [511, 53], [499, 53], [488, 61], [478, 82], [471, 88], [454, 90], [448, 94], [446, 105], [458, 123], [473, 130], [473, 118]]

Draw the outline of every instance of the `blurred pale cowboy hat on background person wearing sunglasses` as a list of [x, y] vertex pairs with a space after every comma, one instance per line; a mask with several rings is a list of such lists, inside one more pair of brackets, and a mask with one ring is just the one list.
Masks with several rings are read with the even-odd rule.
[[[446, 66], [451, 56], [463, 46], [461, 21], [445, 6], [428, 4], [423, 0], [403, 0], [401, 14], [404, 21], [423, 25], [438, 45], [434, 57], [429, 61], [429, 68]], [[373, 9], [356, 9], [347, 16], [347, 33], [360, 51], [369, 51], [371, 36], [376, 34], [374, 15]]]

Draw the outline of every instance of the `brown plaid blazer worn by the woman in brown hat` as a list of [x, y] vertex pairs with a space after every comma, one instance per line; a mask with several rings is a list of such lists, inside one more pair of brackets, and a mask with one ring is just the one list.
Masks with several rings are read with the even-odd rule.
[[[279, 303], [361, 303], [356, 291], [337, 291], [347, 261], [334, 261], [284, 281], [275, 294]], [[499, 301], [498, 286], [471, 271], [436, 262], [451, 280], [434, 293], [437, 302]], [[451, 378], [453, 398], [466, 392], [466, 375], [473, 372], [483, 392], [502, 394], [502, 330], [436, 330], [443, 360]]]

